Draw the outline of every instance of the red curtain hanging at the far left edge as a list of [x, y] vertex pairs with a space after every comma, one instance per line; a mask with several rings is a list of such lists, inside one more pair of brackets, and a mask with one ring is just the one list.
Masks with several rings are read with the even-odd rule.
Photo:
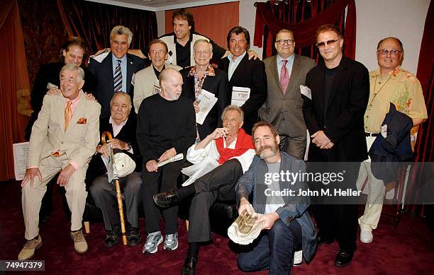
[[[12, 144], [24, 141], [29, 84], [16, 0], [0, 4], [0, 181], [15, 177]], [[23, 115], [24, 114], [24, 115]]]

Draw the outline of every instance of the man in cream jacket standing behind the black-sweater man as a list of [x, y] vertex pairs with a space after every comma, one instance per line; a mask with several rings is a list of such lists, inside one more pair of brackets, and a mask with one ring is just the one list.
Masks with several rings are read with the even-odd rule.
[[167, 45], [162, 40], [154, 39], [149, 43], [148, 57], [152, 64], [135, 74], [133, 103], [136, 114], [145, 98], [160, 93], [158, 76], [162, 70], [173, 68], [179, 71], [182, 69], [180, 66], [166, 62], [169, 54], [167, 54]]

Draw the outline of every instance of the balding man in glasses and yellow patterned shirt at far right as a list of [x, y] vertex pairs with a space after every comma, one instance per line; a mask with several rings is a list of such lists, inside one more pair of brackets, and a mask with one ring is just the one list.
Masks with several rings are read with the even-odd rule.
[[[377, 45], [379, 68], [369, 73], [370, 93], [365, 112], [367, 149], [372, 146], [389, 111], [389, 103], [413, 120], [413, 127], [423, 123], [428, 115], [423, 99], [421, 83], [410, 72], [401, 68], [404, 48], [396, 37], [386, 37]], [[377, 228], [382, 215], [385, 187], [382, 180], [372, 175], [370, 159], [362, 163], [357, 186], [367, 178], [368, 197], [365, 213], [359, 218], [360, 241], [372, 242], [372, 229]]]

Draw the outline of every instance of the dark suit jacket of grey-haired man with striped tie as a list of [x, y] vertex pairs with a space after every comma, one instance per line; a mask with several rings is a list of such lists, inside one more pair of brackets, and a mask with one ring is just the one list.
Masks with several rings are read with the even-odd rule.
[[[114, 93], [112, 55], [110, 52], [101, 63], [94, 59], [89, 59], [89, 72], [94, 76], [96, 83], [94, 95], [99, 104], [101, 104], [101, 117], [110, 115], [110, 100]], [[131, 99], [134, 97], [134, 86], [131, 84], [131, 79], [133, 78], [133, 74], [143, 69], [144, 66], [144, 59], [136, 57], [133, 54], [127, 54], [126, 92], [131, 96]]]

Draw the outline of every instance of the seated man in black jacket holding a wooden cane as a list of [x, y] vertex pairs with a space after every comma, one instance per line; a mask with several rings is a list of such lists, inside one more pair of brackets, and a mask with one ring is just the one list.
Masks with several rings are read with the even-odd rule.
[[[142, 158], [135, 139], [135, 112], [131, 112], [130, 95], [116, 92], [110, 102], [111, 115], [101, 117], [99, 131], [109, 131], [113, 139], [107, 141], [113, 148], [113, 153], [126, 153], [135, 161], [135, 170], [129, 175], [120, 178], [123, 195], [126, 201], [126, 220], [128, 245], [138, 245], [140, 242], [138, 204], [140, 202], [140, 185], [142, 183]], [[92, 181], [90, 192], [96, 206], [101, 209], [104, 218], [104, 228], [107, 236], [104, 240], [106, 247], [116, 245], [120, 235], [119, 213], [115, 209], [116, 188], [109, 182], [106, 165], [101, 158], [110, 156], [108, 145], [99, 144], [96, 147], [97, 154], [91, 159], [87, 170], [87, 177], [95, 177]], [[120, 163], [118, 163], [119, 165]]]

